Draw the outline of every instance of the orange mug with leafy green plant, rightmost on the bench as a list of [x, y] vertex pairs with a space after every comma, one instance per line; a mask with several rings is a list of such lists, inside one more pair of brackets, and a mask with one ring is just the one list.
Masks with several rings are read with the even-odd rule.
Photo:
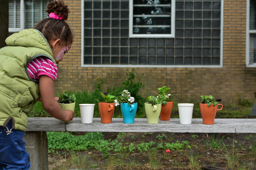
[[[218, 104], [218, 102], [214, 101], [214, 97], [212, 95], [201, 96], [201, 98], [202, 100], [199, 105], [200, 105], [201, 115], [203, 118], [203, 124], [213, 125], [216, 112], [220, 111], [223, 108], [223, 105]], [[220, 109], [218, 109], [219, 105], [221, 105]]]

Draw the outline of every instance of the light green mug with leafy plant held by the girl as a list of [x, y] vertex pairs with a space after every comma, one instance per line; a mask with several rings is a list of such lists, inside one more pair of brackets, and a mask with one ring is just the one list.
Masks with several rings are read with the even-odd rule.
[[[59, 93], [59, 100], [58, 103], [63, 111], [65, 110], [72, 110], [74, 112], [75, 110], [75, 100], [77, 99], [74, 94], [71, 94], [70, 92], [63, 91]], [[63, 121], [61, 121], [63, 122]], [[63, 123], [70, 123], [72, 122], [63, 122]]]

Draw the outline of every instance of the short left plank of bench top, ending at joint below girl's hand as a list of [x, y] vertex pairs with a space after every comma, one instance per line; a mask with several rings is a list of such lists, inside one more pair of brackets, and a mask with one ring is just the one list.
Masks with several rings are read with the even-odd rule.
[[65, 131], [65, 123], [52, 117], [29, 117], [26, 131]]

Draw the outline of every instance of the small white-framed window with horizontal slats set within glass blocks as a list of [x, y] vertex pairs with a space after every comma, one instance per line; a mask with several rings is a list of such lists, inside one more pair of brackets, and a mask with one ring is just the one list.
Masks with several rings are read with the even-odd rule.
[[174, 37], [175, 0], [129, 2], [129, 37]]

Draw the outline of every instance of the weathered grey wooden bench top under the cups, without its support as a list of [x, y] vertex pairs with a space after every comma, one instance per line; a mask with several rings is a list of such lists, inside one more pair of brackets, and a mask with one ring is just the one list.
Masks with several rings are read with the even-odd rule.
[[29, 118], [27, 131], [88, 131], [88, 132], [175, 132], [175, 133], [256, 133], [256, 119], [215, 119], [214, 125], [204, 125], [202, 119], [192, 119], [192, 124], [179, 124], [178, 118], [148, 124], [146, 118], [135, 118], [134, 124], [124, 124], [122, 118], [113, 118], [111, 124], [102, 124], [100, 118], [82, 124], [74, 118], [64, 124], [55, 118]]

